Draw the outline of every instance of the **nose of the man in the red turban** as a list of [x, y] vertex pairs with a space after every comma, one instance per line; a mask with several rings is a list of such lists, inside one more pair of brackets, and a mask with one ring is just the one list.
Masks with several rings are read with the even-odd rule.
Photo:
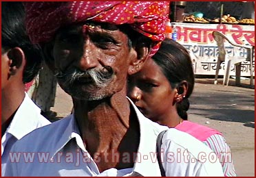
[[83, 55], [81, 56], [78, 67], [82, 71], [87, 71], [90, 68], [95, 68], [98, 66], [98, 53], [97, 48], [93, 44], [93, 42], [90, 42], [89, 39], [85, 40], [83, 45]]

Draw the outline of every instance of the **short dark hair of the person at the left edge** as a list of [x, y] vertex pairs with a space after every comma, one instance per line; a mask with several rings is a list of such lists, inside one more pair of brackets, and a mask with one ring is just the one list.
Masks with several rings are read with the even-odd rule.
[[[39, 46], [30, 42], [25, 31], [25, 10], [22, 2], [2, 2], [2, 49], [20, 47], [25, 53], [23, 83], [28, 83], [39, 73], [43, 57]], [[3, 53], [2, 51], [2, 53]]]

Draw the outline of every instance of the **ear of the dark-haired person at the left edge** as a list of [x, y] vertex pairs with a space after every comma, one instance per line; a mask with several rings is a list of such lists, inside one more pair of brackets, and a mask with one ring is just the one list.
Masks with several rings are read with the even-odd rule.
[[23, 73], [25, 66], [25, 54], [19, 47], [14, 47], [7, 52], [9, 59], [9, 73], [15, 75], [18, 71]]

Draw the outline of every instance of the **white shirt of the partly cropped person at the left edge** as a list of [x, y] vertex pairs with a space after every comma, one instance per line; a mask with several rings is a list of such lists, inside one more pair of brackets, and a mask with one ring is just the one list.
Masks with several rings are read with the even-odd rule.
[[[4, 104], [4, 103], [3, 103]], [[25, 97], [14, 115], [10, 125], [1, 138], [1, 173], [5, 173], [6, 162], [9, 159], [9, 152], [13, 144], [23, 138], [31, 131], [44, 125], [50, 124], [50, 121], [41, 115], [41, 110], [25, 93]], [[32, 142], [30, 142], [32, 144]]]

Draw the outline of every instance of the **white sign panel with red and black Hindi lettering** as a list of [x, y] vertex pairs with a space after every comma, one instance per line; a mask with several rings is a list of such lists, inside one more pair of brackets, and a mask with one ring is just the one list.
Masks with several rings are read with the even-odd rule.
[[[254, 25], [226, 25], [226, 24], [197, 24], [173, 23], [178, 31], [178, 39], [191, 54], [196, 75], [215, 75], [218, 49], [213, 39], [213, 31], [222, 34], [237, 44], [255, 45]], [[225, 42], [227, 55], [246, 58], [246, 49], [234, 47]], [[253, 73], [254, 73], [253, 55]], [[219, 75], [224, 74], [224, 62], [221, 64]], [[232, 66], [231, 75], [235, 75], [235, 66]], [[250, 62], [242, 62], [241, 76], [250, 76]]]

